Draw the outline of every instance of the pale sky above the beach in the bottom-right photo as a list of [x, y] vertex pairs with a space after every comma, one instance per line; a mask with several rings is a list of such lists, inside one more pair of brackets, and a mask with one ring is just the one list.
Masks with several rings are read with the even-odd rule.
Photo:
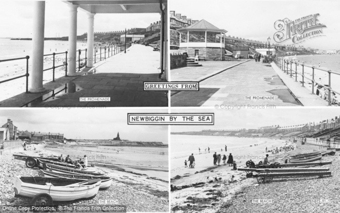
[[[191, 110], [172, 109], [172, 113], [188, 113]], [[197, 113], [215, 113], [215, 125], [171, 126], [171, 132], [201, 131], [202, 129], [257, 129], [261, 126], [290, 126], [318, 123], [323, 120], [340, 117], [337, 108], [276, 108], [276, 109], [199, 109]]]

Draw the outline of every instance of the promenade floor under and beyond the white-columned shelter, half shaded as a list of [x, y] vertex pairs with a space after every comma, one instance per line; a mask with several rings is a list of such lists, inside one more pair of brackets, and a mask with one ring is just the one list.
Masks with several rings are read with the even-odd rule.
[[[62, 77], [48, 83], [45, 94], [22, 93], [0, 102], [0, 106], [37, 107], [108, 107], [108, 106], [168, 106], [165, 91], [143, 91], [144, 81], [160, 81], [160, 53], [143, 45], [133, 45], [127, 52], [95, 64], [83, 75]], [[85, 74], [84, 74], [85, 73]], [[45, 85], [44, 85], [45, 86]], [[81, 102], [81, 97], [110, 97], [109, 102]]]

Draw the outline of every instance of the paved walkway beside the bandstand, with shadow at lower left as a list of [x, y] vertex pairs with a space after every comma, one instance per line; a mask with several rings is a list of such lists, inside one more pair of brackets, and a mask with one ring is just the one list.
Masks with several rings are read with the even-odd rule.
[[[210, 64], [209, 69], [219, 70], [221, 68], [222, 62], [219, 62], [216, 68], [213, 67], [213, 63]], [[200, 68], [191, 69], [194, 71]], [[178, 69], [178, 73], [180, 70]], [[254, 96], [272, 98], [272, 100], [254, 100]], [[246, 97], [251, 97], [251, 99], [246, 99]], [[200, 91], [182, 91], [171, 96], [171, 106], [216, 105], [218, 107], [221, 105], [301, 106], [270, 64], [255, 61], [242, 63], [207, 78], [200, 82]]]

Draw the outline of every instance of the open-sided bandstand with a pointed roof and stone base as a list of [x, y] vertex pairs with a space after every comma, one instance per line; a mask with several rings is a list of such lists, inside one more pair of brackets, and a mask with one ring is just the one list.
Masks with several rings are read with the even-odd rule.
[[224, 60], [226, 30], [202, 19], [178, 31], [179, 49], [186, 51], [189, 57], [199, 55], [205, 60]]

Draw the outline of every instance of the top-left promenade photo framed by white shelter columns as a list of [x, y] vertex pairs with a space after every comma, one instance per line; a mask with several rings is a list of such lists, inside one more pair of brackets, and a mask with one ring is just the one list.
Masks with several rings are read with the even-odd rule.
[[[167, 0], [1, 0], [0, 107], [168, 106]], [[96, 103], [91, 98], [96, 98]]]

